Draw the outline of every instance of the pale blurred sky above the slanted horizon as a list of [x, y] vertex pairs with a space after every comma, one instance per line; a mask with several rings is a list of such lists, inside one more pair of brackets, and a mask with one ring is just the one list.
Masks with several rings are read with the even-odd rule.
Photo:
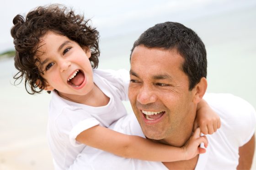
[[167, 20], [180, 22], [256, 5], [256, 0], [3, 0], [0, 10], [0, 53], [13, 49], [10, 29], [15, 15], [38, 5], [73, 7], [92, 19], [101, 38], [143, 31]]

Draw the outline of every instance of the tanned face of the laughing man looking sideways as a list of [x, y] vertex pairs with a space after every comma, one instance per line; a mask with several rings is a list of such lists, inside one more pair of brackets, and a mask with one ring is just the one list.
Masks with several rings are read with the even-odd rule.
[[129, 100], [150, 139], [168, 140], [193, 125], [194, 90], [176, 50], [137, 46], [131, 56]]

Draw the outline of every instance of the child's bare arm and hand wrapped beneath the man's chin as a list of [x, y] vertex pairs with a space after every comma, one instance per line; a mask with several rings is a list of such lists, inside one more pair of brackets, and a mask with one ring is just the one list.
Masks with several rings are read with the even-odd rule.
[[205, 137], [200, 137], [200, 130], [197, 131], [192, 135], [188, 144], [181, 148], [155, 143], [135, 135], [124, 135], [99, 125], [81, 132], [76, 140], [125, 158], [170, 162], [189, 160], [205, 152], [198, 146], [202, 142], [208, 145], [208, 141]]

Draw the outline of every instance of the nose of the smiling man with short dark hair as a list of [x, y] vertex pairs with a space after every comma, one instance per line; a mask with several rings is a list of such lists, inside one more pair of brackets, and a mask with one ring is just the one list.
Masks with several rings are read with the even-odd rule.
[[139, 90], [139, 95], [137, 95], [137, 101], [140, 104], [146, 105], [149, 103], [154, 103], [157, 100], [157, 96], [155, 95], [154, 90], [150, 87], [142, 87]]

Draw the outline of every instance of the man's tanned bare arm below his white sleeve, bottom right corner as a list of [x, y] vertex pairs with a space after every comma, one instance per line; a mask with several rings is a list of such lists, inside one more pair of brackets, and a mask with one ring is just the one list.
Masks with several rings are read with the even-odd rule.
[[245, 145], [239, 148], [239, 164], [237, 170], [250, 170], [255, 150], [255, 135]]

